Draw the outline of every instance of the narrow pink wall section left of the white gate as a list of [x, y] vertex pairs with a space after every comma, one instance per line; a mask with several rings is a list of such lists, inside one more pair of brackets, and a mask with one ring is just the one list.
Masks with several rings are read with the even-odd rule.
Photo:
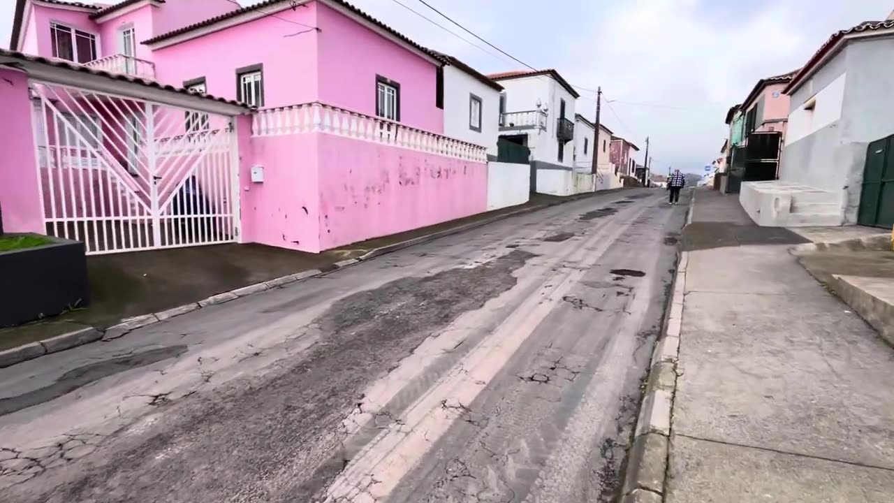
[[7, 232], [43, 234], [28, 76], [0, 69], [0, 204]]

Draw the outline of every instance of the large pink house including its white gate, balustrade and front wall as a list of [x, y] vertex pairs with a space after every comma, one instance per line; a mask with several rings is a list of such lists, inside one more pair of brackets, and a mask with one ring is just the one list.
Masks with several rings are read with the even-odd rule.
[[18, 0], [11, 42], [29, 92], [0, 99], [26, 100], [39, 192], [0, 189], [11, 231], [320, 252], [486, 209], [485, 148], [443, 136], [443, 61], [342, 0]]

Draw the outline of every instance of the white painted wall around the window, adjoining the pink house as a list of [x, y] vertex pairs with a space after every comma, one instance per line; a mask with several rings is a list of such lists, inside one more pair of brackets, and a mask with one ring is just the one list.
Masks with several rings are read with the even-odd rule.
[[[482, 101], [481, 132], [469, 127], [469, 98], [474, 94]], [[460, 70], [444, 66], [444, 134], [487, 148], [497, 155], [500, 134], [500, 91]]]

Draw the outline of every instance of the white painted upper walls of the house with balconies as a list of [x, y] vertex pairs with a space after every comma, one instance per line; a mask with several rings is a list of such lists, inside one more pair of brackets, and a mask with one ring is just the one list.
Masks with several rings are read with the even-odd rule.
[[[559, 82], [547, 75], [525, 77], [521, 79], [509, 79], [499, 81], [505, 88], [506, 111], [524, 112], [536, 110], [537, 101], [541, 107], [547, 109], [546, 131], [528, 130], [519, 133], [527, 133], [527, 147], [531, 149], [531, 160], [548, 162], [555, 165], [574, 166], [574, 146], [569, 141], [564, 145], [564, 160], [559, 162], [559, 142], [556, 139], [556, 119], [559, 117], [560, 100], [565, 100], [565, 118], [574, 122], [575, 101]], [[502, 132], [512, 134], [513, 132]], [[539, 185], [539, 182], [538, 182]]]

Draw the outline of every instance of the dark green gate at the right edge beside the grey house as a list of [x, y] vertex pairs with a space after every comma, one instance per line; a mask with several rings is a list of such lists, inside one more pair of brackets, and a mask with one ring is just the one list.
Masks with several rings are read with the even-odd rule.
[[866, 150], [860, 225], [894, 226], [894, 135], [873, 141]]

